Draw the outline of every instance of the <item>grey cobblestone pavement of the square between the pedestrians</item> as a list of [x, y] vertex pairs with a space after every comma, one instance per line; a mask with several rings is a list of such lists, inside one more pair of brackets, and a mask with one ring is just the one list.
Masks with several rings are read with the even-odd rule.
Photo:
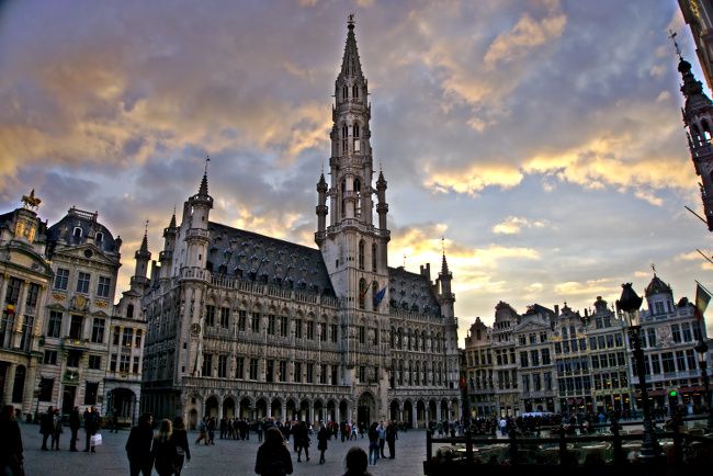
[[[39, 427], [35, 424], [21, 423], [22, 442], [24, 445], [25, 473], [27, 476], [44, 475], [98, 475], [114, 476], [128, 475], [128, 461], [124, 451], [124, 444], [128, 438], [128, 431], [110, 433], [102, 431], [104, 444], [97, 447], [95, 453], [83, 453], [84, 431], [79, 430], [80, 443], [78, 453], [69, 452], [69, 428], [59, 441], [60, 451], [41, 451], [42, 435]], [[215, 445], [195, 445], [197, 433], [189, 433], [191, 441], [191, 455], [193, 456], [188, 467], [181, 473], [185, 476], [199, 475], [253, 475], [254, 458], [258, 452], [258, 439], [256, 434], [250, 435], [249, 441], [215, 440]], [[351, 446], [360, 446], [367, 452], [369, 440], [366, 438], [356, 441], [342, 443], [339, 440], [329, 440], [329, 447], [326, 453], [326, 464], [320, 465], [319, 452], [317, 451], [317, 439], [312, 437], [309, 462], [297, 463], [296, 453], [292, 452], [294, 465], [293, 475], [309, 476], [339, 476], [344, 473], [344, 454]], [[288, 443], [292, 450], [292, 441]], [[388, 449], [386, 449], [388, 454]], [[370, 466], [369, 471], [373, 476], [417, 476], [423, 474], [423, 460], [426, 458], [426, 432], [423, 430], [411, 430], [399, 433], [396, 440], [396, 458], [380, 460], [376, 466]], [[156, 472], [154, 473], [156, 474]]]

